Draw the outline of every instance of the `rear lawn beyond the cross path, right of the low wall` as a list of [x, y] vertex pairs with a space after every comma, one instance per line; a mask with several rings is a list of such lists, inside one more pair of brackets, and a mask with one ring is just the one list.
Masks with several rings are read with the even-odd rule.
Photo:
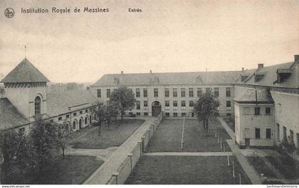
[[[220, 143], [214, 136], [215, 126], [222, 141], [231, 139], [218, 120], [210, 121], [209, 133], [206, 134], [196, 119], [186, 119], [184, 126], [184, 148], [181, 150], [183, 119], [164, 119], [147, 146], [147, 152], [217, 152], [221, 151]], [[230, 151], [226, 143], [226, 151]]]

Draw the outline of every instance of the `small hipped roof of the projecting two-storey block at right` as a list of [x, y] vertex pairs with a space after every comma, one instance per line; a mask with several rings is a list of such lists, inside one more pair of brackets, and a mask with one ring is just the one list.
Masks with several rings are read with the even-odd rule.
[[266, 103], [273, 103], [273, 99], [271, 97], [271, 94], [266, 89], [246, 89], [246, 91], [243, 93], [243, 95], [236, 97], [234, 101], [238, 102], [266, 102]]

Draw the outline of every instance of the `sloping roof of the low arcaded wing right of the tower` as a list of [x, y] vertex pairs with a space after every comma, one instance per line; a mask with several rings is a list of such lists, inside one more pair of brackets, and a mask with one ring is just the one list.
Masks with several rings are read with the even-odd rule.
[[51, 117], [66, 114], [73, 109], [89, 107], [94, 101], [96, 101], [96, 99], [90, 90], [47, 94], [47, 114]]

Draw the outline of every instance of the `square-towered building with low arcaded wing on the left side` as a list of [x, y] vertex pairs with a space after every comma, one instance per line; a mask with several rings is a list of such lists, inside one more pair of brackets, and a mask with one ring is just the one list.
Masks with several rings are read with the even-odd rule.
[[26, 58], [1, 80], [4, 97], [0, 98], [0, 131], [17, 128], [29, 131], [34, 116], [73, 125], [73, 130], [89, 126], [92, 122], [90, 91], [47, 92], [50, 82]]

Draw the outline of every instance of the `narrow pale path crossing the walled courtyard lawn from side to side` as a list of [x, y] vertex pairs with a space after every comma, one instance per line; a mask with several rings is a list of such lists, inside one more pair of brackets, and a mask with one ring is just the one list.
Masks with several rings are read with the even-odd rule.
[[227, 156], [233, 155], [231, 152], [154, 152], [144, 153], [145, 156]]

